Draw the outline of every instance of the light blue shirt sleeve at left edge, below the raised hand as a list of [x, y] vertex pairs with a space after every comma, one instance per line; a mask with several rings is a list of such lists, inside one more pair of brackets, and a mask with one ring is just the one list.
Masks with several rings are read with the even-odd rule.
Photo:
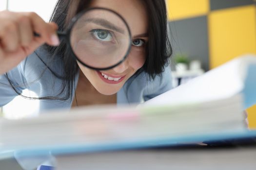
[[21, 93], [23, 89], [25, 89], [25, 79], [22, 74], [21, 65], [18, 65], [9, 72], [0, 75], [0, 107], [11, 102], [16, 96], [18, 96], [15, 90]]

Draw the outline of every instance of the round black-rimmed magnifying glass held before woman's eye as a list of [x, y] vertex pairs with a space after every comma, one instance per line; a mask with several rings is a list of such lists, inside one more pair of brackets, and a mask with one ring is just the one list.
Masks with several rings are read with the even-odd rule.
[[128, 56], [132, 39], [128, 24], [117, 12], [90, 8], [76, 15], [64, 38], [72, 55], [85, 67], [106, 70], [118, 66]]

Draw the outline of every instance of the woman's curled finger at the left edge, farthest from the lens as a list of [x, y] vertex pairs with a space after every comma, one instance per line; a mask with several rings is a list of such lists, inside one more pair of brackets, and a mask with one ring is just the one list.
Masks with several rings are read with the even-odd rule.
[[19, 46], [19, 29], [15, 22], [3, 23], [0, 33], [1, 46], [4, 51], [16, 51]]

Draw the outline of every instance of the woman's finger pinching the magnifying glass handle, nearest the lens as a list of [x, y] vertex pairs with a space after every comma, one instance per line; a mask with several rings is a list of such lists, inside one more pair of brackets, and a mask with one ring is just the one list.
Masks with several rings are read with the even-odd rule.
[[56, 27], [53, 24], [46, 23], [36, 13], [28, 13], [32, 21], [33, 30], [40, 34], [40, 37], [49, 45], [59, 45], [59, 39], [56, 37]]

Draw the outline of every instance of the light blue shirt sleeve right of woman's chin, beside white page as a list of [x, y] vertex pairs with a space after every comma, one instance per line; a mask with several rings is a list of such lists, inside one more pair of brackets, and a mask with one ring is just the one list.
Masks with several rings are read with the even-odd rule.
[[153, 80], [144, 90], [143, 99], [148, 101], [173, 88], [171, 67], [165, 67], [164, 71]]

